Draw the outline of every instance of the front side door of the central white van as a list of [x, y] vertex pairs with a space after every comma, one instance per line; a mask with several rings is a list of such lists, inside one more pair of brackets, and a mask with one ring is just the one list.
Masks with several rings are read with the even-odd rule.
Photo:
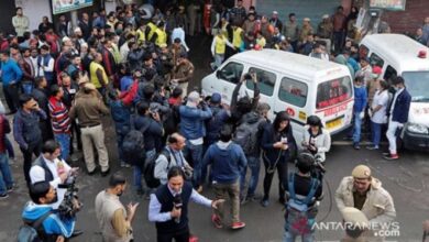
[[220, 92], [222, 102], [231, 105], [232, 91], [234, 90], [235, 85], [240, 82], [243, 70], [244, 65], [241, 63], [230, 62], [226, 64], [221, 69], [216, 72], [218, 81], [211, 81], [210, 91]]

